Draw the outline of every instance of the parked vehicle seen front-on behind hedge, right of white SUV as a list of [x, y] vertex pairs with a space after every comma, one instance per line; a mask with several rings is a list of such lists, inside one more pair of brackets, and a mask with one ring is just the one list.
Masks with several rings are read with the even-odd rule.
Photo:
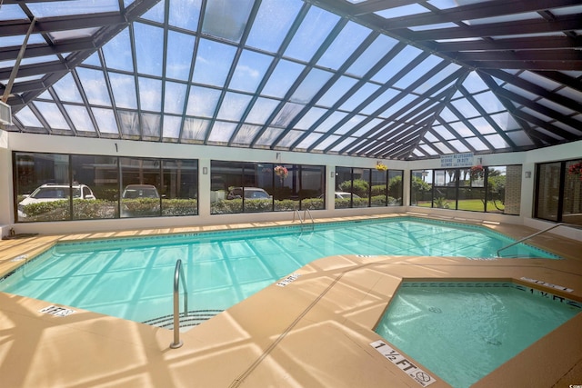
[[[153, 184], [128, 184], [121, 194], [121, 216], [143, 217], [160, 214], [160, 194]], [[152, 201], [139, 201], [149, 199]], [[156, 201], [157, 200], [157, 201]]]

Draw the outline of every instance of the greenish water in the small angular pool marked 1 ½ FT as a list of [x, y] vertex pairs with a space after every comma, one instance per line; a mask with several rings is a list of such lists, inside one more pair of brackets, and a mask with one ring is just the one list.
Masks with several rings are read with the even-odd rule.
[[376, 333], [463, 388], [580, 312], [582, 303], [520, 284], [405, 282]]

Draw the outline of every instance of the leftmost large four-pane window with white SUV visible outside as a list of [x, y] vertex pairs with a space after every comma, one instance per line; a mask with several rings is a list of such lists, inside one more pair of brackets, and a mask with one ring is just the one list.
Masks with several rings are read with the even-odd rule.
[[195, 215], [196, 160], [14, 153], [17, 222]]

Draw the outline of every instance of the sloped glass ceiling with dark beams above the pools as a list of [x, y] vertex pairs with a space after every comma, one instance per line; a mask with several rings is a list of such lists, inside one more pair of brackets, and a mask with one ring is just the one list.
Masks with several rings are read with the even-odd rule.
[[36, 17], [8, 131], [403, 160], [582, 139], [577, 1], [0, 6], [4, 91]]

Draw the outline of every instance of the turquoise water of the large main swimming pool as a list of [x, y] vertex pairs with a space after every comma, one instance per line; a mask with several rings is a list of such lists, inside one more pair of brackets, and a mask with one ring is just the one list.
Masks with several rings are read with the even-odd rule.
[[[398, 217], [351, 223], [57, 244], [0, 281], [16, 293], [137, 322], [172, 313], [176, 260], [189, 310], [212, 316], [334, 254], [492, 258], [513, 242], [485, 228]], [[503, 254], [557, 258], [518, 244]]]

